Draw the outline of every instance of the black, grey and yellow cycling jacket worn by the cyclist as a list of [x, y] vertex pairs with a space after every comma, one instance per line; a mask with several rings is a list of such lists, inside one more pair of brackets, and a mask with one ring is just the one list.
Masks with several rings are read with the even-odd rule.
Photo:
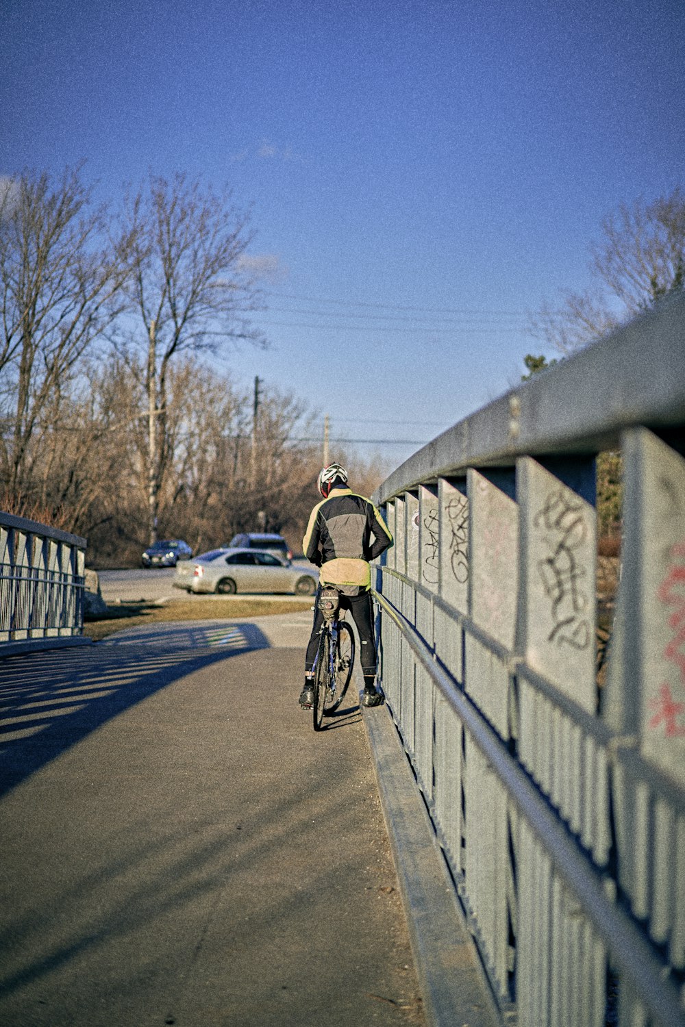
[[[373, 541], [372, 541], [373, 536]], [[392, 535], [371, 499], [351, 489], [332, 489], [314, 506], [302, 547], [307, 560], [320, 567], [322, 584], [371, 584], [369, 561], [392, 545]]]

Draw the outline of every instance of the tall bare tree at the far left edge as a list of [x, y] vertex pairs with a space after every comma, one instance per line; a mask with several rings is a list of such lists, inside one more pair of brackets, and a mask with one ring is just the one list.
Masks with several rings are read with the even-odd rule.
[[0, 187], [0, 469], [11, 494], [28, 487], [34, 435], [121, 309], [131, 232], [112, 238], [108, 228], [80, 168], [54, 184], [25, 172]]

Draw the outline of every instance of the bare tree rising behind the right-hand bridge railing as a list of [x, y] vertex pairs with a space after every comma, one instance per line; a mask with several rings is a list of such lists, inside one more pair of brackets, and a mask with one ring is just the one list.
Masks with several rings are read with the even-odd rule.
[[531, 318], [531, 334], [569, 353], [595, 342], [649, 309], [685, 276], [685, 195], [676, 187], [651, 203], [622, 204], [602, 223], [592, 249], [595, 283], [565, 292], [560, 307], [544, 305]]

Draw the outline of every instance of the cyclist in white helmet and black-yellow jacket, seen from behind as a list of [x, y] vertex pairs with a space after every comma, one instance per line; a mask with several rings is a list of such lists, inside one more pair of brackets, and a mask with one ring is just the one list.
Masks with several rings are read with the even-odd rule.
[[[347, 471], [339, 463], [324, 467], [318, 476], [324, 500], [311, 511], [302, 545], [304, 555], [319, 571], [320, 585], [340, 592], [340, 607], [350, 610], [360, 642], [365, 707], [380, 706], [383, 696], [376, 690], [376, 641], [371, 602], [371, 568], [375, 560], [392, 545], [392, 535], [370, 499], [356, 495], [347, 486]], [[373, 541], [372, 541], [373, 536]], [[324, 615], [314, 604], [314, 624], [305, 657], [304, 688], [300, 706], [307, 710], [314, 701], [313, 665]]]

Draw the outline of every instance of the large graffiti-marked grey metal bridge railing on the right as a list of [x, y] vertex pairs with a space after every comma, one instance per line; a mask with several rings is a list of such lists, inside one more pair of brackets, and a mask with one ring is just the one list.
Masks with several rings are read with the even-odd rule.
[[[504, 1019], [685, 1023], [685, 296], [375, 495], [380, 676]], [[596, 456], [623, 464], [598, 675]], [[606, 678], [604, 674], [606, 673]]]

